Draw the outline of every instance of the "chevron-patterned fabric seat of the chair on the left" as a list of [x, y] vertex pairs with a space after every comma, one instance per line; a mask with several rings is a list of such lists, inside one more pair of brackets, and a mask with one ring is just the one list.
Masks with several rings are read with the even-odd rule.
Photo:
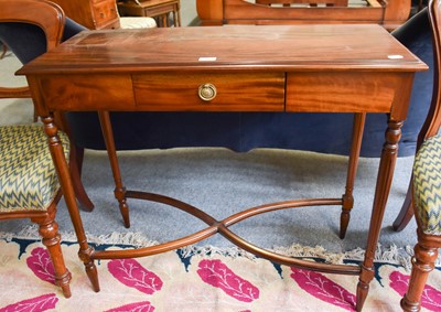
[[[67, 136], [58, 133], [67, 158]], [[0, 127], [0, 213], [44, 211], [58, 190], [43, 127]]]

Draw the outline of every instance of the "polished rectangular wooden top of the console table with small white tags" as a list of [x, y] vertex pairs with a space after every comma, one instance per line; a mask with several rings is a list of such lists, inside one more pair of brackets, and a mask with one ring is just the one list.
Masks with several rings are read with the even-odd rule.
[[18, 72], [427, 69], [379, 25], [227, 25], [85, 31]]

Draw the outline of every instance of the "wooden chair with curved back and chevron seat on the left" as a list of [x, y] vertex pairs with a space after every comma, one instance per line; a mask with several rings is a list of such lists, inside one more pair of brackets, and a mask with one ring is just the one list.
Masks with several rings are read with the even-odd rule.
[[[40, 26], [46, 37], [47, 49], [60, 42], [64, 21], [63, 11], [51, 2], [0, 0], [0, 24], [30, 23]], [[28, 97], [28, 88], [0, 88], [0, 98], [20, 95]], [[68, 139], [66, 135], [61, 136], [67, 158]], [[43, 127], [0, 126], [0, 219], [30, 218], [39, 224], [40, 235], [52, 259], [55, 283], [68, 298], [71, 273], [63, 259], [55, 222], [56, 203], [61, 196]]]

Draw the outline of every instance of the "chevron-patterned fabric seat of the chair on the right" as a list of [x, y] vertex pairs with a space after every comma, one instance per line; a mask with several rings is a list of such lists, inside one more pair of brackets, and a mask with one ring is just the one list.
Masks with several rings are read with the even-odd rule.
[[441, 136], [426, 140], [416, 155], [413, 198], [422, 232], [441, 235]]

